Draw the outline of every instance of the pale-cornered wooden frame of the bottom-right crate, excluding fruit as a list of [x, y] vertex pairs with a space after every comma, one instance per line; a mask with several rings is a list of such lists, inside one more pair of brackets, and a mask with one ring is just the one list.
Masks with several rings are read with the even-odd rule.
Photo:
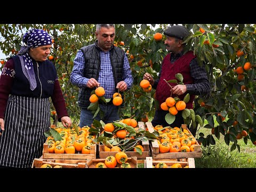
[[189, 168], [195, 168], [194, 158], [173, 158], [173, 159], [153, 159], [152, 157], [147, 157], [145, 160], [146, 168], [153, 168], [157, 163], [166, 163], [167, 168], [171, 168], [174, 163], [180, 163], [182, 167], [188, 165]]

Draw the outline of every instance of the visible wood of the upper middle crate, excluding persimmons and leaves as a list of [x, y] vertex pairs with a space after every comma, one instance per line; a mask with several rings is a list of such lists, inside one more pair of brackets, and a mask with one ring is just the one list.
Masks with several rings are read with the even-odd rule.
[[[143, 122], [138, 123], [140, 129], [145, 130], [145, 124]], [[149, 141], [142, 141], [142, 146], [144, 151], [142, 151], [142, 154], [140, 155], [136, 151], [125, 151], [127, 157], [137, 157], [138, 159], [146, 159], [146, 157], [150, 156], [150, 150], [149, 150]], [[99, 145], [99, 156], [100, 158], [106, 158], [110, 155], [115, 156], [116, 151], [104, 151], [104, 145]]]

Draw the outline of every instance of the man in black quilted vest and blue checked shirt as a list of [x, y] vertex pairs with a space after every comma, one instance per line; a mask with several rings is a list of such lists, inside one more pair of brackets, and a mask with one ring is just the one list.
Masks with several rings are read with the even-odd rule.
[[[129, 61], [125, 52], [114, 46], [115, 25], [97, 24], [95, 35], [97, 41], [94, 44], [84, 46], [80, 49], [74, 60], [74, 68], [70, 81], [78, 86], [78, 106], [81, 108], [80, 127], [91, 126], [93, 116], [90, 106], [91, 92], [97, 87], [105, 89], [105, 99], [113, 98], [113, 94], [130, 89], [133, 77]], [[99, 100], [99, 108], [103, 111], [95, 117], [98, 121], [112, 123], [120, 119], [118, 108], [112, 101], [107, 103]]]

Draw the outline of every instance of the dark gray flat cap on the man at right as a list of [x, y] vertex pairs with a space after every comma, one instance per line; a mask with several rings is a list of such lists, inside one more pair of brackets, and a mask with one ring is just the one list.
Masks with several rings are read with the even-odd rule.
[[171, 26], [164, 30], [164, 35], [170, 36], [170, 37], [176, 37], [181, 40], [183, 40], [184, 37], [189, 35], [189, 31], [184, 26]]

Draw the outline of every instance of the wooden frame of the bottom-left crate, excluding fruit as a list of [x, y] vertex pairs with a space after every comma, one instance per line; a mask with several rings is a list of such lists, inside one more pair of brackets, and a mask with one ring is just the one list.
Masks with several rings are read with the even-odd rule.
[[35, 158], [32, 168], [40, 168], [43, 164], [50, 164], [52, 167], [61, 165], [62, 168], [86, 168], [86, 160], [81, 159], [43, 159]]

